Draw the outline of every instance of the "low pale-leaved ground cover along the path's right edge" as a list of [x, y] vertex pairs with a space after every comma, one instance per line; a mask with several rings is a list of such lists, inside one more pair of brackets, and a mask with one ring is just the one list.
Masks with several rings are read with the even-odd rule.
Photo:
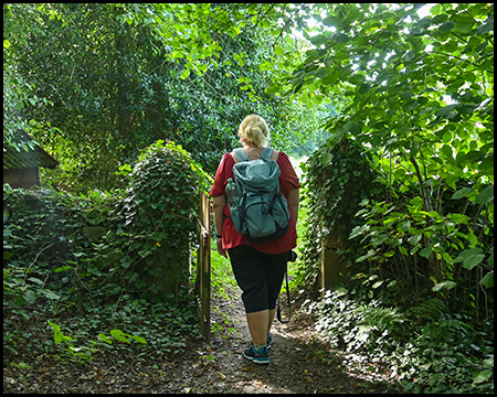
[[408, 313], [358, 299], [357, 291], [339, 288], [309, 303], [307, 310], [319, 316], [316, 329], [334, 346], [350, 356], [388, 363], [408, 393], [493, 391], [491, 322], [472, 328], [467, 318], [450, 314], [436, 299]]

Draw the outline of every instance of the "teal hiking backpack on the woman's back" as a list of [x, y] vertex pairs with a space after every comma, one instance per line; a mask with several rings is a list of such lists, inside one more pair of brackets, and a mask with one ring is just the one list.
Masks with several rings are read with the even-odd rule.
[[[248, 160], [243, 149], [235, 149], [233, 165], [236, 198], [228, 201], [236, 232], [251, 243], [269, 242], [283, 236], [289, 227], [288, 203], [279, 192], [279, 167], [271, 160], [273, 149], [265, 148], [261, 158]], [[226, 192], [233, 186], [226, 186]]]

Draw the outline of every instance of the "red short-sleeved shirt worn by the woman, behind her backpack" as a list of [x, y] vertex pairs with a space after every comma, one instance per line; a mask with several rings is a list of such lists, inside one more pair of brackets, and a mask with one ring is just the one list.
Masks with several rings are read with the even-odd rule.
[[[278, 158], [276, 160], [279, 165], [279, 191], [282, 194], [288, 198], [288, 194], [294, 189], [300, 187], [300, 182], [298, 180], [297, 174], [288, 159], [284, 152], [278, 153]], [[233, 178], [233, 165], [235, 164], [231, 153], [226, 153], [221, 159], [218, 171], [214, 178], [214, 184], [210, 191], [210, 195], [212, 197], [224, 195], [225, 187], [228, 184], [228, 180]], [[289, 208], [288, 208], [289, 210]], [[224, 206], [224, 221], [223, 221], [223, 229], [222, 229], [222, 240], [223, 248], [234, 248], [240, 245], [248, 245], [248, 240], [244, 235], [241, 235], [236, 232], [233, 222], [231, 221], [230, 208], [228, 204]], [[297, 246], [297, 229], [295, 225], [295, 218], [290, 211], [290, 225], [288, 230], [282, 237], [267, 242], [267, 243], [252, 243], [251, 244], [255, 249], [265, 254], [283, 254], [289, 251], [292, 248]]]

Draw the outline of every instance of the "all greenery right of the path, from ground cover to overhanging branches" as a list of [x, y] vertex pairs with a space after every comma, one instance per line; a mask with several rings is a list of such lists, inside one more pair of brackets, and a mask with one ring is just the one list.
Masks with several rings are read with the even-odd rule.
[[317, 49], [289, 81], [345, 97], [307, 163], [302, 272], [317, 285], [329, 238], [350, 270], [311, 305], [318, 326], [415, 379], [409, 390], [489, 391], [493, 6], [438, 4], [422, 19], [409, 6], [374, 18], [366, 4], [334, 7], [322, 23], [335, 29], [309, 37]]

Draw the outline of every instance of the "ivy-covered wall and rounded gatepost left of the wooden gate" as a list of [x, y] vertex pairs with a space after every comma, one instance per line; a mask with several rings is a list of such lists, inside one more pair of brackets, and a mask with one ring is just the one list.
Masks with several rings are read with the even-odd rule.
[[12, 304], [57, 299], [61, 283], [89, 299], [160, 301], [177, 291], [207, 175], [181, 147], [158, 141], [120, 176], [125, 190], [87, 196], [3, 185], [4, 297], [7, 278]]

